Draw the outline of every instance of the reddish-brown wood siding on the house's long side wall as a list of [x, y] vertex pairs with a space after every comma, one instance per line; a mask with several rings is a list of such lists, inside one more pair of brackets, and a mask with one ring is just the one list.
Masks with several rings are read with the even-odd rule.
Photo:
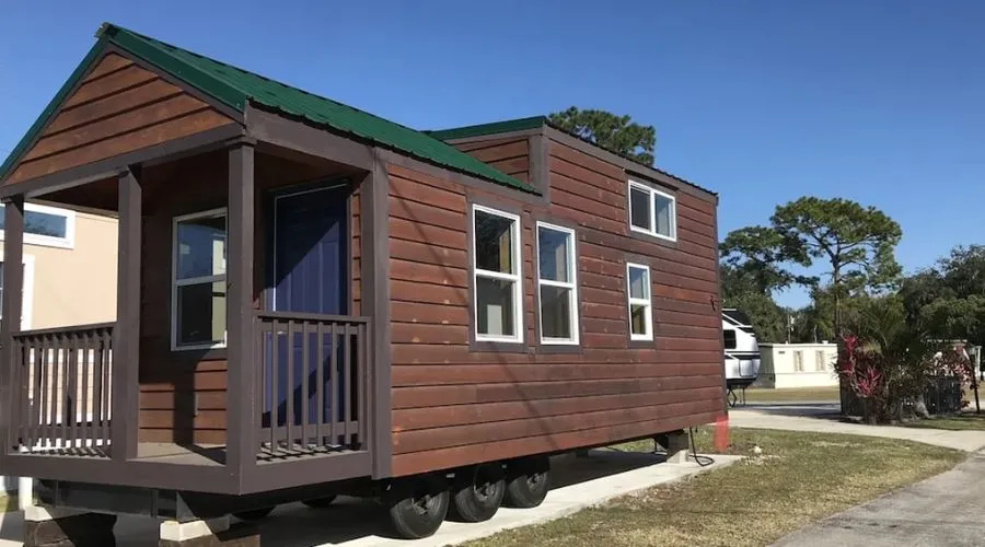
[[[544, 206], [389, 170], [395, 475], [647, 437], [721, 411], [715, 203], [672, 191], [677, 242], [630, 236], [623, 168], [559, 142], [548, 151]], [[523, 351], [470, 346], [470, 201], [521, 212]], [[546, 351], [535, 338], [536, 220], [576, 226], [575, 352]], [[646, 347], [628, 341], [627, 259], [650, 266]]]

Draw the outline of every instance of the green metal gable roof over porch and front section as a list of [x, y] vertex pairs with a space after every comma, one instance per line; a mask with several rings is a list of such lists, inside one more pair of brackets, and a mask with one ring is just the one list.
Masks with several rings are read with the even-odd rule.
[[265, 107], [265, 109], [302, 118], [312, 125], [332, 128], [453, 171], [467, 173], [518, 190], [538, 194], [533, 186], [513, 178], [437, 138], [351, 106], [108, 23], [104, 23], [100, 27], [96, 37], [99, 39], [92, 50], [0, 166], [0, 178], [8, 174], [18, 158], [25, 152], [25, 149], [34, 140], [34, 136], [54, 115], [76, 81], [86, 72], [91, 63], [101, 57], [106, 46], [112, 44], [235, 110], [243, 112], [246, 103], [251, 102]]

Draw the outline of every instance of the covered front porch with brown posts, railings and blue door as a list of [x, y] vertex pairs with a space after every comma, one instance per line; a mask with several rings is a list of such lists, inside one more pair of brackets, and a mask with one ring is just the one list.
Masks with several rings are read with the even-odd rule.
[[254, 114], [0, 188], [3, 317], [25, 199], [119, 225], [116, 322], [2, 322], [5, 475], [242, 494], [384, 473], [378, 160]]

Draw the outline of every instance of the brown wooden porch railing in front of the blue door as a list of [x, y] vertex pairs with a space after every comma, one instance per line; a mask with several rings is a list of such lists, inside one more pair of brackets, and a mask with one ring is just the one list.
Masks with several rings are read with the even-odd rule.
[[370, 319], [293, 312], [257, 318], [260, 458], [364, 445]]

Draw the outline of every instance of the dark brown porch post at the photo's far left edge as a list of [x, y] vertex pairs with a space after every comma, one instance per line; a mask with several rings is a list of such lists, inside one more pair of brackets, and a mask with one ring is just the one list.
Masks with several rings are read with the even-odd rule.
[[14, 196], [3, 201], [3, 307], [0, 319], [0, 348], [3, 351], [3, 366], [0, 368], [0, 397], [7, 411], [0, 410], [0, 427], [3, 430], [2, 454], [16, 450], [20, 437], [21, 415], [26, 410], [26, 394], [20, 389], [21, 363], [14, 349], [13, 337], [21, 331], [21, 309], [24, 288], [24, 196]]

